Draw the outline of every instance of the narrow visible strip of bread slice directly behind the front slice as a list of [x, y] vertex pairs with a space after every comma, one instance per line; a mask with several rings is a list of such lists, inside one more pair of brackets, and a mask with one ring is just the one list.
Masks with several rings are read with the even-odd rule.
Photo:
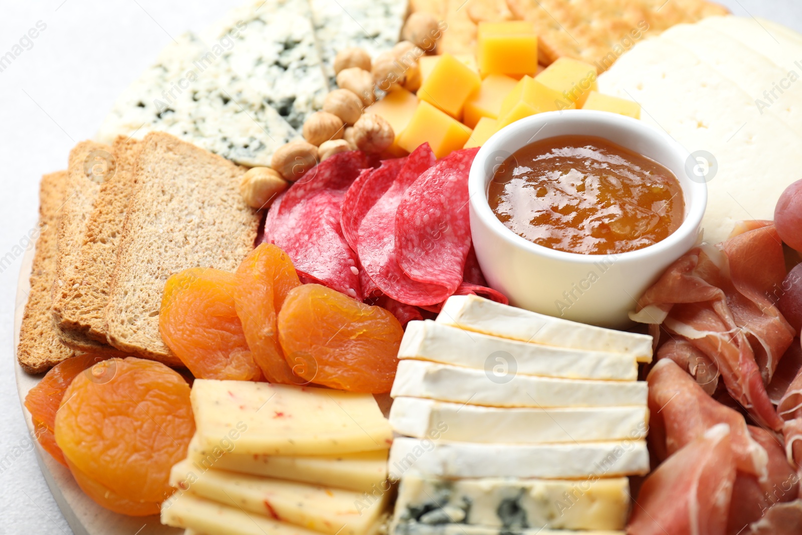
[[100, 184], [87, 218], [77, 267], [60, 292], [59, 313], [65, 335], [106, 343], [106, 316], [111, 274], [131, 199], [134, 168], [142, 149], [137, 140], [120, 136], [114, 144], [116, 172]]

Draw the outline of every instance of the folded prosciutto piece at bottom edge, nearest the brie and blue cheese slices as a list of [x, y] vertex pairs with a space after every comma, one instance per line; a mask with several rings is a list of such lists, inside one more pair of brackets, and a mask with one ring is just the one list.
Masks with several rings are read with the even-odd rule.
[[730, 436], [727, 424], [715, 425], [652, 472], [626, 533], [725, 535], [735, 481]]

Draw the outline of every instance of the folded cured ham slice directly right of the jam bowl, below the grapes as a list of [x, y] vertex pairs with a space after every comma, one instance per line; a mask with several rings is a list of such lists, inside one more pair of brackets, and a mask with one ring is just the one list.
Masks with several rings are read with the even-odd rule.
[[742, 225], [734, 234], [675, 261], [646, 290], [632, 318], [662, 324], [701, 351], [732, 398], [760, 424], [780, 431], [783, 421], [765, 385], [795, 336], [769, 298], [785, 276], [782, 245], [768, 221]]

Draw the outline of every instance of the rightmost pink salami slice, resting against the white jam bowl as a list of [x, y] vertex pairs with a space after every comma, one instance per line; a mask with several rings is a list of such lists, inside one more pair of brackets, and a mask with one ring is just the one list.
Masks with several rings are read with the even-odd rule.
[[468, 148], [439, 160], [415, 180], [398, 206], [395, 215], [398, 265], [412, 280], [441, 287], [438, 295], [445, 296], [421, 304], [444, 301], [462, 282], [471, 248], [468, 172], [478, 151]]

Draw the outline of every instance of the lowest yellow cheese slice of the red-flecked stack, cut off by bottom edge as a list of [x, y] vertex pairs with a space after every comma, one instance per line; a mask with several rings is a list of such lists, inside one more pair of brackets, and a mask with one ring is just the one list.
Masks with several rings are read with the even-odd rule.
[[277, 521], [264, 515], [246, 513], [238, 507], [176, 491], [161, 505], [161, 523], [195, 533], [214, 535], [315, 535], [318, 532]]

